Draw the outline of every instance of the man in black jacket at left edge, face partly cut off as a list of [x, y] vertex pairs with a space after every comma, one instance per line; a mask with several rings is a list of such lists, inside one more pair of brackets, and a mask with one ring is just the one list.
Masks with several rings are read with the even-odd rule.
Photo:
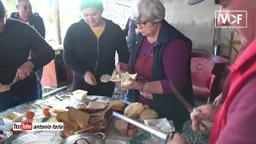
[[[38, 56], [28, 60], [30, 50]], [[0, 0], [0, 83], [5, 86], [16, 82], [10, 90], [0, 91], [0, 111], [42, 98], [34, 71], [54, 57], [54, 50], [36, 30], [7, 18], [6, 6]]]

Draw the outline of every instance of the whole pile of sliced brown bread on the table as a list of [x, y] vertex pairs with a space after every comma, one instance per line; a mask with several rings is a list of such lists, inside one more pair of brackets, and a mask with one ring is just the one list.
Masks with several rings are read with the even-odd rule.
[[105, 130], [113, 113], [109, 106], [92, 114], [86, 113], [84, 110], [70, 107], [68, 111], [57, 115], [56, 120], [64, 124], [64, 129], [60, 132], [62, 138], [73, 134], [96, 133]]

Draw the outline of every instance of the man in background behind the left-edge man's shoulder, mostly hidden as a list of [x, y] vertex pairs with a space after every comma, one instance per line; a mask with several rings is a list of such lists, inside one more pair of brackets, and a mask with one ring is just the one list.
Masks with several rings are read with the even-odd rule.
[[[39, 34], [41, 34], [42, 38], [46, 37], [46, 28], [44, 25], [44, 22], [42, 18], [39, 16], [38, 13], [32, 12], [32, 6], [30, 4], [30, 0], [17, 0], [17, 10], [18, 12], [14, 12], [10, 14], [10, 18], [21, 20], [22, 22], [26, 22], [30, 26], [32, 26], [35, 30], [38, 31]], [[30, 51], [30, 58], [36, 57], [37, 54], [31, 50]], [[36, 74], [38, 75], [38, 83], [40, 87], [40, 94], [42, 95], [42, 70], [43, 68], [40, 68]]]

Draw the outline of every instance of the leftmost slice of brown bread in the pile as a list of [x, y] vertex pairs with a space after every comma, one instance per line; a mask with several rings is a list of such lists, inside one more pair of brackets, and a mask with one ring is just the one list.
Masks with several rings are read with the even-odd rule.
[[63, 122], [64, 126], [70, 130], [78, 130], [79, 126], [77, 122], [72, 122], [69, 117], [69, 112], [63, 111], [56, 116], [58, 122]]

